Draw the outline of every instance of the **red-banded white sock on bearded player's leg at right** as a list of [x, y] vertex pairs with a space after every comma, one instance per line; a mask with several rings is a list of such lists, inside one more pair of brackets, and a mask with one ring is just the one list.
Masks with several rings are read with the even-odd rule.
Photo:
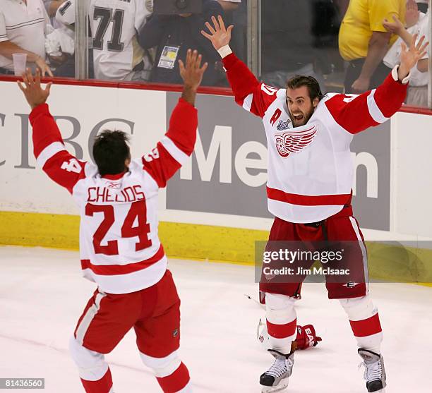
[[342, 307], [347, 312], [349, 324], [359, 348], [380, 353], [383, 341], [383, 329], [378, 310], [368, 296], [362, 298], [342, 299]]

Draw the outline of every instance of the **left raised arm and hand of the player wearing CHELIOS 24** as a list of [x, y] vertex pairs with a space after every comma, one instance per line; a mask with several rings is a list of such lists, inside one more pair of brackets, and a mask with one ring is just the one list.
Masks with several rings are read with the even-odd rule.
[[53, 181], [72, 193], [76, 183], [85, 177], [85, 162], [78, 161], [66, 150], [56, 121], [49, 113], [46, 101], [52, 84], [42, 89], [39, 68], [35, 77], [28, 69], [23, 82], [24, 85], [18, 82], [18, 86], [32, 108], [30, 123], [37, 164]]

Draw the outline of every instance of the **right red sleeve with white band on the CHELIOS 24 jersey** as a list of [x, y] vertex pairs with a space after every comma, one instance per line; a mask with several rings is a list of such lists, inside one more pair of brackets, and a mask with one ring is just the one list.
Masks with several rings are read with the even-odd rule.
[[159, 187], [165, 187], [167, 181], [174, 176], [181, 165], [192, 154], [196, 142], [198, 114], [193, 105], [184, 99], [172, 112], [169, 130], [157, 147], [147, 155], [143, 155], [143, 169], [155, 179]]

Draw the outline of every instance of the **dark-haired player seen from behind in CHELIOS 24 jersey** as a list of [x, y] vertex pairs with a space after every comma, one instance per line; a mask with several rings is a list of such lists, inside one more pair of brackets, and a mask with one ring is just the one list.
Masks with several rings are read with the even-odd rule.
[[[18, 82], [32, 112], [37, 164], [66, 188], [80, 209], [83, 276], [97, 284], [78, 320], [70, 351], [87, 393], [113, 393], [104, 354], [134, 329], [140, 357], [163, 392], [192, 392], [179, 358], [180, 299], [157, 236], [157, 193], [192, 154], [198, 126], [196, 90], [208, 64], [188, 50], [179, 63], [184, 89], [157, 146], [131, 160], [126, 134], [104, 131], [95, 140], [95, 164], [73, 157], [45, 103], [51, 84], [28, 70]], [[145, 391], [145, 389], [143, 390]]]

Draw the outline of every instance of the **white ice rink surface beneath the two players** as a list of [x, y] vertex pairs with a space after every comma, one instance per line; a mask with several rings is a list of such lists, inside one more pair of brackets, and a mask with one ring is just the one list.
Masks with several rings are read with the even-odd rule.
[[[263, 310], [244, 296], [257, 298], [253, 267], [170, 260], [169, 268], [182, 301], [180, 353], [194, 392], [258, 393], [272, 358], [255, 337]], [[80, 277], [78, 253], [0, 247], [0, 377], [44, 377], [43, 392], [83, 392], [67, 346], [94, 289]], [[432, 288], [373, 284], [371, 294], [385, 334], [386, 392], [432, 392]], [[304, 286], [297, 313], [323, 341], [296, 353], [287, 392], [366, 392], [349, 323], [323, 284]], [[116, 393], [160, 392], [140, 362], [133, 332], [107, 360]]]

